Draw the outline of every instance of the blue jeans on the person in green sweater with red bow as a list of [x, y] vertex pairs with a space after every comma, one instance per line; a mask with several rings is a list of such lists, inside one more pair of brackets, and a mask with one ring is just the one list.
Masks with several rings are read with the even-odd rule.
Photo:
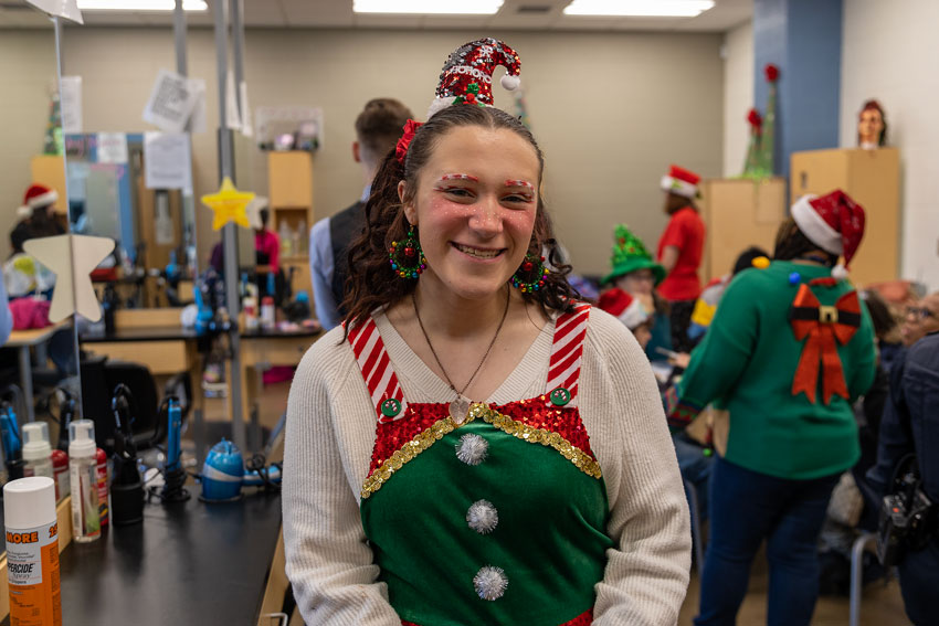
[[697, 626], [736, 624], [763, 539], [770, 565], [767, 624], [810, 623], [819, 595], [816, 542], [838, 476], [790, 480], [717, 459]]

